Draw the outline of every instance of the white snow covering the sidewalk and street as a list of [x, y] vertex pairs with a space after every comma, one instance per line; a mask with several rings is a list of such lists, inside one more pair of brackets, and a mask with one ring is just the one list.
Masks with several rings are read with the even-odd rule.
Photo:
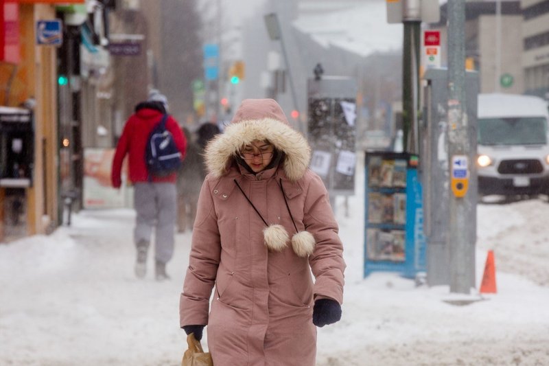
[[[338, 200], [343, 316], [318, 330], [317, 365], [548, 365], [545, 199], [478, 206], [477, 282], [493, 249], [498, 293], [452, 306], [443, 301], [452, 297], [447, 286], [415, 287], [390, 273], [362, 279], [361, 165], [349, 218]], [[0, 245], [0, 365], [180, 364], [178, 299], [191, 234], [176, 236], [171, 281], [150, 272], [138, 280], [133, 218], [129, 209], [82, 211], [51, 236]]]

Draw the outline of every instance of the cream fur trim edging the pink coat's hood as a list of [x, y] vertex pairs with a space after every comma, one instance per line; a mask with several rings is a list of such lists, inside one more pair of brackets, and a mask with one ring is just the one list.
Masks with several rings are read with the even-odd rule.
[[284, 152], [282, 166], [290, 181], [303, 178], [311, 159], [307, 140], [288, 124], [272, 118], [247, 120], [227, 126], [225, 132], [211, 140], [206, 148], [208, 170], [219, 178], [229, 168], [239, 150], [255, 139], [268, 140], [277, 150]]

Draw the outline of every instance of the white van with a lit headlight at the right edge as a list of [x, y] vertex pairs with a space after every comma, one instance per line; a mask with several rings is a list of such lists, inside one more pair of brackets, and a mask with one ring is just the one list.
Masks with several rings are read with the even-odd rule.
[[548, 104], [530, 95], [478, 95], [478, 193], [549, 194]]

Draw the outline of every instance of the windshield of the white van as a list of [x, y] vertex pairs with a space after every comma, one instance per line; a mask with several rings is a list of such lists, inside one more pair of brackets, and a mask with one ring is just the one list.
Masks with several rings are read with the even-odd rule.
[[508, 117], [478, 119], [480, 145], [547, 144], [545, 117]]

